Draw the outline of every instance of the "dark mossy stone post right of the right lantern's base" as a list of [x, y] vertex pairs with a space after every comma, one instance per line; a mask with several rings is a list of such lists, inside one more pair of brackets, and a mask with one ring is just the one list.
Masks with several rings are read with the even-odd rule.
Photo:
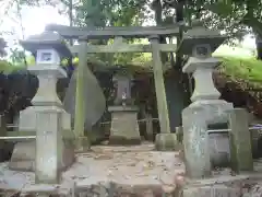
[[248, 112], [245, 108], [234, 108], [229, 113], [231, 167], [238, 173], [253, 170], [251, 135], [248, 120]]

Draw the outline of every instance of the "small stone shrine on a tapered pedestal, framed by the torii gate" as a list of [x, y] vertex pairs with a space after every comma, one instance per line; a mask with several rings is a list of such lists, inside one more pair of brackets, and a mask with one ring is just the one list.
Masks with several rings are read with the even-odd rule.
[[138, 124], [139, 108], [131, 97], [132, 76], [126, 69], [118, 69], [112, 78], [116, 88], [115, 106], [109, 106], [111, 113], [110, 144], [140, 144]]

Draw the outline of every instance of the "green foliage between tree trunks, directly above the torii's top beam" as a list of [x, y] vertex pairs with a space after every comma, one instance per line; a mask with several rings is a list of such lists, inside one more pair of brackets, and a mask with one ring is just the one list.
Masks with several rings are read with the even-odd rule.
[[75, 7], [76, 25], [83, 26], [126, 26], [140, 21], [145, 0], [82, 0]]

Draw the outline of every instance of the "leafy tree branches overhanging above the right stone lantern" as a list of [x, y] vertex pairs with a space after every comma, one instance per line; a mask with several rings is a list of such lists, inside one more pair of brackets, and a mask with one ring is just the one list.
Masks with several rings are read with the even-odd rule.
[[224, 30], [233, 38], [242, 39], [248, 32], [262, 35], [260, 0], [192, 0], [186, 12], [188, 21], [205, 20], [209, 27]]

